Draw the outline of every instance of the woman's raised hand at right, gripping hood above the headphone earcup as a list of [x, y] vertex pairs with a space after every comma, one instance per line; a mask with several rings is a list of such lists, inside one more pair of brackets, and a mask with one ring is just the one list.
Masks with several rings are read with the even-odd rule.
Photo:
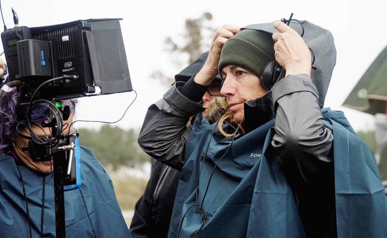
[[274, 28], [279, 32], [273, 34], [276, 61], [289, 74], [310, 75], [310, 51], [301, 36], [283, 22], [274, 22]]

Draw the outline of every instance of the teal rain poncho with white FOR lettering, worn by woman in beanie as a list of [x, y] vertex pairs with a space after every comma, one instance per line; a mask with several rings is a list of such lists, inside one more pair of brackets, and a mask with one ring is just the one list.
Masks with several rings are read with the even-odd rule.
[[[325, 127], [334, 136], [338, 237], [387, 237], [387, 198], [370, 149], [356, 136], [344, 113], [323, 109], [322, 115]], [[209, 141], [214, 126], [207, 120], [195, 120], [193, 125], [186, 145], [188, 159], [180, 177], [170, 238], [178, 234], [182, 212], [196, 203], [195, 188], [204, 156], [202, 148], [209, 143], [202, 170], [202, 175], [208, 178], [231, 143], [216, 133]], [[204, 200], [206, 225], [194, 237], [305, 237], [291, 187], [271, 147], [273, 136], [274, 119], [233, 142], [218, 165]], [[207, 182], [199, 183], [199, 201]], [[200, 209], [190, 209], [180, 237], [188, 237], [201, 224]]]

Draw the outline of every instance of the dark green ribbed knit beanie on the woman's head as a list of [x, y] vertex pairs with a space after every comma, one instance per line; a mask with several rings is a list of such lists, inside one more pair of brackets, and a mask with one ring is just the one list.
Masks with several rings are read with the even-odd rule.
[[219, 74], [229, 64], [240, 66], [260, 76], [265, 65], [275, 60], [272, 34], [262, 30], [241, 30], [228, 39], [219, 59]]

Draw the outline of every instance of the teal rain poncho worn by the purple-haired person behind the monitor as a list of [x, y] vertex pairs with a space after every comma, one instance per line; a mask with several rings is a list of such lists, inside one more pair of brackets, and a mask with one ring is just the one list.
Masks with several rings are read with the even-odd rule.
[[[86, 147], [81, 147], [80, 158], [80, 188], [96, 235], [99, 238], [131, 237], [108, 173]], [[17, 166], [26, 189], [32, 236], [40, 237], [45, 174], [25, 165]], [[0, 170], [0, 238], [30, 237], [26, 203], [15, 159], [0, 154]], [[55, 237], [53, 174], [46, 174], [45, 180], [43, 237]], [[79, 189], [65, 192], [65, 218], [67, 237], [95, 237]]]

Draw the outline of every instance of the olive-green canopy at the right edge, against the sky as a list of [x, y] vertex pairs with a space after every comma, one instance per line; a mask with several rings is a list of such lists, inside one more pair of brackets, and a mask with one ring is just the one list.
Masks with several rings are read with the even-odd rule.
[[385, 113], [387, 102], [387, 47], [367, 69], [343, 106], [365, 113]]

